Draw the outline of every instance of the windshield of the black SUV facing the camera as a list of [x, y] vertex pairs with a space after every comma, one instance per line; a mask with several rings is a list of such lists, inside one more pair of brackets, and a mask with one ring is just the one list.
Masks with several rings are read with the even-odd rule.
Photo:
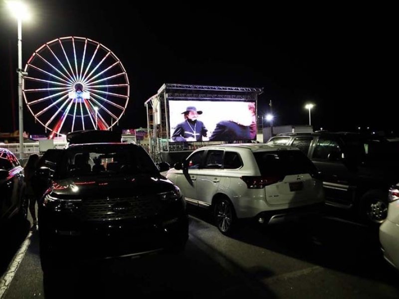
[[120, 144], [71, 147], [61, 159], [59, 176], [159, 174], [148, 153], [138, 146]]

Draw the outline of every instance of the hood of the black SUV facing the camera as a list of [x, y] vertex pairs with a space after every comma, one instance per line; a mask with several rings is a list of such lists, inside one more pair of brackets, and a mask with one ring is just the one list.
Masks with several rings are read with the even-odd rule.
[[163, 176], [124, 175], [55, 180], [51, 190], [52, 194], [61, 197], [124, 197], [162, 193], [174, 190], [174, 188], [172, 181]]

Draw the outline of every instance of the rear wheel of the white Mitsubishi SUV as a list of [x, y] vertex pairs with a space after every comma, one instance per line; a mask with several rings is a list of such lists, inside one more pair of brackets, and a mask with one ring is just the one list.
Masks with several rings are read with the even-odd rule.
[[228, 199], [219, 199], [214, 206], [214, 222], [223, 235], [231, 235], [235, 229], [237, 218], [233, 204]]

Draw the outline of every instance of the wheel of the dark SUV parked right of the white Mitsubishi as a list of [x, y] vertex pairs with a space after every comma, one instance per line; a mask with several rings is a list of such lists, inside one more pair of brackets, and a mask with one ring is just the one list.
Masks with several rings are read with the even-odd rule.
[[380, 190], [366, 192], [360, 203], [360, 216], [369, 224], [381, 224], [388, 215], [388, 194]]

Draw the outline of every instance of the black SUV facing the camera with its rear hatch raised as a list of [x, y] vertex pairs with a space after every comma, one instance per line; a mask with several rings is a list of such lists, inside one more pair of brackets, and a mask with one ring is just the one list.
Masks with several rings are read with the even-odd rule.
[[[160, 174], [169, 164], [157, 167], [142, 147], [121, 143], [121, 136], [119, 142], [105, 139], [108, 135], [115, 136], [74, 132], [67, 136], [66, 149], [49, 149], [39, 161], [35, 179], [42, 194], [38, 220], [44, 272], [66, 257], [102, 259], [185, 247], [185, 201]], [[85, 140], [90, 143], [76, 144]]]

